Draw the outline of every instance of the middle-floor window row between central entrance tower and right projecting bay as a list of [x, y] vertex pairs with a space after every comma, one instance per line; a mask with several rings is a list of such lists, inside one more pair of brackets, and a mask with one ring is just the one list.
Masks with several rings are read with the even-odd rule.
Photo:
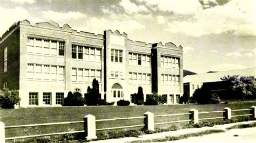
[[150, 85], [151, 74], [129, 73], [129, 84]]

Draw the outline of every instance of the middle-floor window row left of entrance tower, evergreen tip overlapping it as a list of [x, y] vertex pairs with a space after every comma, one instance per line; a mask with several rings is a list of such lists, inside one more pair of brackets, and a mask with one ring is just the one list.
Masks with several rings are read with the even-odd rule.
[[101, 82], [101, 70], [72, 68], [72, 82], [92, 82], [94, 78]]

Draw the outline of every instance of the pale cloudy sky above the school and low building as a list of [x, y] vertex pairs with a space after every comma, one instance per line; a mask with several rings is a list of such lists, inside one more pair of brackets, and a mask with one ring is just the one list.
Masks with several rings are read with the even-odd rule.
[[256, 67], [256, 0], [0, 0], [0, 36], [18, 20], [53, 20], [73, 30], [125, 32], [183, 46], [195, 73]]

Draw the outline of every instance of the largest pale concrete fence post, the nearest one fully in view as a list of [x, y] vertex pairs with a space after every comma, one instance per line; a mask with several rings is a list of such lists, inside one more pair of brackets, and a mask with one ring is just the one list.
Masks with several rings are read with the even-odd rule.
[[95, 116], [90, 114], [84, 116], [84, 131], [87, 140], [97, 139]]

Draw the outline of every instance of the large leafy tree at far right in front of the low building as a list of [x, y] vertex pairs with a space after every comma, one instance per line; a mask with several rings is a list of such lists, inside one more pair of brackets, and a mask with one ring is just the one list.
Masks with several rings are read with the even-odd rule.
[[226, 91], [231, 95], [230, 98], [244, 99], [253, 97], [254, 76], [227, 75], [221, 77], [220, 80], [226, 82]]

